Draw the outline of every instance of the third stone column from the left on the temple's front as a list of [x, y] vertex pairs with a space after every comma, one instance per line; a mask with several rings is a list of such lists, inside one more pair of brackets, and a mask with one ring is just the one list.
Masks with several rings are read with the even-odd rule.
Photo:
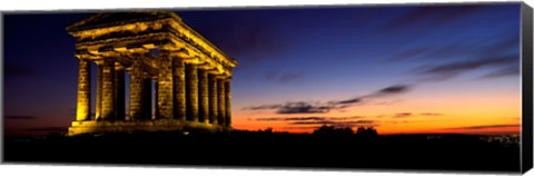
[[142, 92], [142, 68], [140, 60], [134, 60], [130, 70], [130, 120], [139, 120], [144, 115]]

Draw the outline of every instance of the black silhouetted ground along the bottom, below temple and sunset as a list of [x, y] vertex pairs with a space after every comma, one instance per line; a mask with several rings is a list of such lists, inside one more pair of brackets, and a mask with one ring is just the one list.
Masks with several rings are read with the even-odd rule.
[[4, 138], [7, 163], [258, 166], [518, 173], [518, 144], [478, 136], [115, 134]]

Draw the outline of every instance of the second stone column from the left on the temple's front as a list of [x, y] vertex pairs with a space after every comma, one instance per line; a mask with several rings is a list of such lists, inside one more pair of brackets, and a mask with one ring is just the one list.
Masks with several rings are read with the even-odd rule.
[[102, 65], [102, 119], [115, 118], [115, 62], [106, 58]]

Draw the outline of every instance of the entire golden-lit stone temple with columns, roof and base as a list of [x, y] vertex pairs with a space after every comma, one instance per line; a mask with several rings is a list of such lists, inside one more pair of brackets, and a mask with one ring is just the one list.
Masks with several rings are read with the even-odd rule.
[[[99, 13], [67, 31], [77, 40], [79, 59], [77, 115], [68, 135], [231, 130], [230, 81], [237, 61], [176, 13]], [[98, 67], [95, 91], [91, 63]]]

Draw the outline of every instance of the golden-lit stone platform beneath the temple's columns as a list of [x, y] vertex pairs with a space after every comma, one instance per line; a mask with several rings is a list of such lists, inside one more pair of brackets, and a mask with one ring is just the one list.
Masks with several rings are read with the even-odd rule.
[[224, 133], [231, 131], [231, 127], [182, 121], [176, 119], [157, 119], [157, 120], [139, 120], [139, 121], [72, 121], [67, 136], [76, 136], [81, 134], [109, 134], [109, 133], [135, 133], [135, 131], [208, 131]]

